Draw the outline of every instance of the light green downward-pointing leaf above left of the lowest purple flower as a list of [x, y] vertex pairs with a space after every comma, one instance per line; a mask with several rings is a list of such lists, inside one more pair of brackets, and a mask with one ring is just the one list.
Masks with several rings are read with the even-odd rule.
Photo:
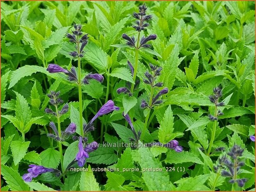
[[11, 150], [14, 165], [17, 165], [20, 160], [25, 156], [26, 150], [29, 148], [30, 141], [22, 142], [22, 141], [12, 141], [11, 142]]

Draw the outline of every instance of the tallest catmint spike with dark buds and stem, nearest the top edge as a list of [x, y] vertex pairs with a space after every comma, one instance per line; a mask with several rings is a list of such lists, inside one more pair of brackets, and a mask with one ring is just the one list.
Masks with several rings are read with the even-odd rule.
[[[147, 15], [147, 6], [144, 3], [143, 5], [139, 6], [139, 12], [133, 12], [132, 17], [136, 19], [135, 25], [132, 27], [138, 32], [138, 36], [135, 39], [134, 36], [129, 37], [127, 34], [123, 34], [122, 38], [126, 40], [126, 44], [129, 45], [130, 47], [133, 47], [135, 49], [135, 63], [134, 63], [134, 70], [132, 70], [133, 73], [133, 81], [136, 82], [136, 75], [138, 71], [138, 59], [139, 59], [139, 49], [144, 47], [144, 48], [149, 48], [150, 45], [146, 44], [150, 40], [156, 40], [156, 35], [151, 34], [147, 37], [143, 36], [141, 37], [141, 31], [146, 30], [146, 27], [149, 26], [148, 21], [152, 19], [152, 15]], [[128, 62], [129, 66], [132, 66], [130, 62]], [[133, 67], [132, 67], [133, 69]], [[130, 92], [133, 93], [135, 85], [131, 85]]]

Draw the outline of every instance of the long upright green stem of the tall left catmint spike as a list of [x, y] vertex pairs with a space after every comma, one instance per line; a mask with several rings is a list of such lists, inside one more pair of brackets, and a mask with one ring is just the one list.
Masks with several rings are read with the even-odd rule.
[[[77, 52], [80, 55], [79, 38], [77, 37]], [[80, 135], [84, 136], [83, 130], [83, 103], [82, 103], [82, 85], [81, 85], [81, 60], [78, 57], [78, 94], [79, 94], [79, 123], [80, 123]]]

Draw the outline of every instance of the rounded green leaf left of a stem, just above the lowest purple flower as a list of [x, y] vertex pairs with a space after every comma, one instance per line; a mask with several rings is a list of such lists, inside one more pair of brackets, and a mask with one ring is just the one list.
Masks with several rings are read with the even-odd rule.
[[60, 163], [60, 152], [49, 148], [40, 153], [42, 166], [47, 168], [57, 168]]

